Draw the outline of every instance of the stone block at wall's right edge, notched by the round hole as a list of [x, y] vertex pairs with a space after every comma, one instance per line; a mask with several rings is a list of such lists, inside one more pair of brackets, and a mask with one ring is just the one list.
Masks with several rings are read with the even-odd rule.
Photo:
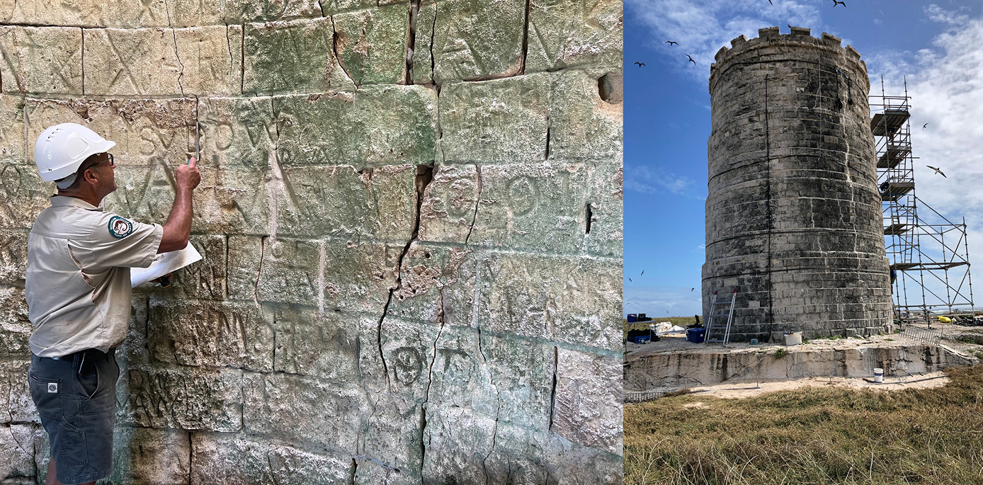
[[601, 98], [598, 80], [581, 71], [553, 75], [549, 158], [615, 159], [623, 154], [622, 104]]

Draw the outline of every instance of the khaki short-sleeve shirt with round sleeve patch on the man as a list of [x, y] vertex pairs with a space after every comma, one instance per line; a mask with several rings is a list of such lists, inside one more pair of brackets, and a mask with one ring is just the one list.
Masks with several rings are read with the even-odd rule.
[[122, 344], [130, 322], [130, 268], [153, 262], [163, 233], [158, 224], [79, 198], [51, 197], [28, 237], [30, 351], [50, 357]]

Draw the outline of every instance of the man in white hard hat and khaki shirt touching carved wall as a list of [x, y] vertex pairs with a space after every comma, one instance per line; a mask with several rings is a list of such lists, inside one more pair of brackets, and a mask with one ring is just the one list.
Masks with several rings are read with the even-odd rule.
[[50, 127], [34, 143], [38, 175], [58, 187], [30, 230], [25, 284], [34, 326], [28, 380], [51, 444], [48, 485], [112, 473], [114, 350], [130, 320], [130, 268], [188, 244], [192, 190], [202, 180], [194, 157], [178, 167], [163, 226], [105, 212], [102, 199], [116, 189], [115, 145], [74, 123]]

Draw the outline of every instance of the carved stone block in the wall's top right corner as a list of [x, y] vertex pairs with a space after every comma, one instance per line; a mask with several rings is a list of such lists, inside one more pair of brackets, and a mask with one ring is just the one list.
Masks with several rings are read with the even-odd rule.
[[576, 66], [620, 71], [622, 11], [616, 0], [530, 3], [526, 73]]

